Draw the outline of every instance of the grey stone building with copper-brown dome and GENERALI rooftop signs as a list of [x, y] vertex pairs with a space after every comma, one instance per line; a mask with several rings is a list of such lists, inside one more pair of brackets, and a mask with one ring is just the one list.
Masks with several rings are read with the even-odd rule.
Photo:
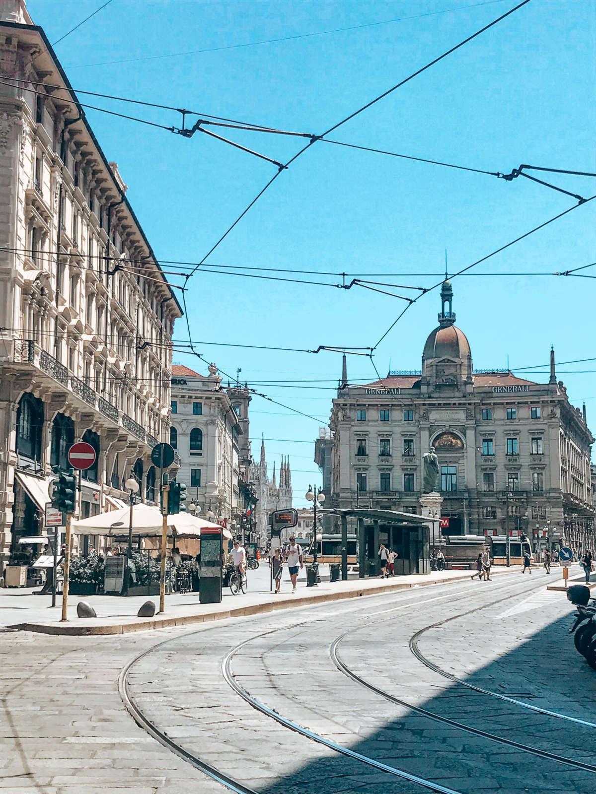
[[474, 371], [452, 298], [445, 281], [420, 372], [365, 386], [344, 375], [331, 412], [331, 505], [420, 512], [422, 456], [434, 447], [444, 534], [524, 531], [536, 548], [594, 547], [594, 438], [585, 407], [556, 380], [554, 351], [546, 383]]

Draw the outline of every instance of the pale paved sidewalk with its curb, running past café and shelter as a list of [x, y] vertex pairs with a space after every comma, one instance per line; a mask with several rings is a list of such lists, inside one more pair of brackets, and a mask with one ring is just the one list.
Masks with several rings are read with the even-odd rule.
[[[331, 582], [324, 579], [325, 568], [321, 566], [322, 581], [317, 587], [307, 588], [304, 572], [298, 582], [296, 593], [292, 594], [291, 584], [284, 581], [280, 595], [269, 592], [269, 569], [250, 572], [249, 590], [246, 595], [231, 595], [226, 588], [221, 603], [201, 604], [199, 593], [175, 593], [166, 595], [165, 612], [153, 618], [137, 618], [137, 611], [146, 596], [123, 598], [114, 595], [70, 595], [68, 598], [68, 622], [60, 621], [61, 596], [56, 597], [56, 607], [48, 607], [51, 596], [33, 595], [31, 589], [0, 590], [0, 625], [37, 631], [43, 634], [126, 634], [133, 631], [160, 629], [167, 626], [187, 626], [210, 620], [219, 620], [244, 615], [261, 615], [278, 609], [304, 607], [310, 603], [325, 603], [348, 599], [360, 595], [378, 595], [414, 587], [428, 587], [469, 580], [467, 571], [433, 571], [429, 574], [395, 576], [390, 579], [358, 579]], [[509, 569], [518, 572], [518, 569]], [[493, 569], [493, 573], [505, 573], [507, 569]], [[156, 605], [159, 596], [150, 596]], [[97, 618], [81, 619], [76, 616], [79, 601], [90, 603], [98, 614]]]

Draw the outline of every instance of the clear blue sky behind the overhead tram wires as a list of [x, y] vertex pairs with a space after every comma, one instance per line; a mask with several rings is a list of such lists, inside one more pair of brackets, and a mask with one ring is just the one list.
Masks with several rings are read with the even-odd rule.
[[[100, 5], [99, 0], [28, 2], [51, 41]], [[471, 0], [112, 0], [57, 44], [56, 52], [75, 88], [321, 133], [514, 5], [514, 0], [476, 6]], [[398, 18], [402, 21], [389, 22]], [[373, 25], [377, 22], [385, 24]], [[354, 25], [370, 26], [233, 46]], [[521, 163], [596, 172], [595, 45], [592, 0], [532, 0], [331, 137], [490, 172], [510, 172]], [[214, 48], [220, 49], [154, 57]], [[91, 102], [100, 103], [179, 124], [170, 111]], [[106, 155], [118, 162], [128, 197], [162, 260], [202, 259], [276, 171], [205, 135], [184, 139], [92, 110], [88, 116]], [[217, 131], [275, 160], [288, 160], [301, 143]], [[596, 194], [596, 179], [533, 173], [572, 193]], [[441, 273], [445, 249], [449, 271], [455, 272], [575, 203], [528, 179], [505, 182], [317, 143], [277, 179], [208, 261], [391, 274], [374, 279], [430, 287], [436, 276], [412, 274]], [[470, 340], [476, 368], [505, 367], [508, 356], [512, 368], [548, 364], [551, 344], [560, 361], [596, 356], [591, 279], [504, 275], [560, 272], [596, 261], [595, 207], [596, 201], [579, 206], [471, 271], [494, 275], [454, 279], [458, 326]], [[585, 271], [590, 273], [596, 276], [596, 268]], [[264, 432], [265, 438], [293, 440], [268, 441], [268, 458], [273, 464], [289, 454], [296, 505], [304, 505], [301, 497], [316, 479], [313, 445], [304, 441], [312, 441], [319, 425], [327, 423], [334, 383], [308, 384], [308, 389], [274, 384], [334, 381], [341, 357], [207, 343], [371, 346], [403, 301], [358, 288], [198, 272], [187, 303], [192, 337], [203, 357], [225, 372], [242, 368], [243, 380], [263, 384], [255, 385], [257, 391], [316, 418], [253, 398], [251, 437]], [[393, 369], [420, 368], [438, 310], [436, 292], [408, 310], [376, 351], [381, 375], [389, 360]], [[187, 333], [183, 320], [176, 339]], [[175, 361], [204, 369], [180, 353]], [[596, 412], [596, 372], [579, 371], [596, 371], [594, 364], [559, 368], [571, 400], [578, 405], [586, 400], [589, 422]], [[541, 380], [539, 372], [530, 369], [527, 376]], [[376, 377], [370, 360], [357, 357], [349, 358], [348, 374], [350, 380]], [[258, 441], [253, 454], [258, 455]]]

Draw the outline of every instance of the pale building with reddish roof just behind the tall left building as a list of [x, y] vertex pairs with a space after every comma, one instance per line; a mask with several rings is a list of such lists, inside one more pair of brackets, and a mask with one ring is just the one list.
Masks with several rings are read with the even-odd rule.
[[242, 435], [241, 420], [215, 364], [210, 364], [208, 376], [174, 364], [170, 444], [180, 455], [176, 479], [187, 486], [187, 504], [199, 505], [203, 515], [211, 511], [226, 525], [242, 510], [238, 490]]

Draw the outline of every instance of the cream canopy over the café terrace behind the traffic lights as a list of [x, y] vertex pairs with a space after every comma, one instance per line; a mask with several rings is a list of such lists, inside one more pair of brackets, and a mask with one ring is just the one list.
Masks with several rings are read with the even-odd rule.
[[[121, 507], [108, 513], [91, 515], [82, 521], [72, 522], [72, 532], [75, 535], [126, 535], [129, 531], [130, 507]], [[151, 537], [161, 535], [162, 515], [158, 507], [139, 503], [133, 506], [133, 535], [138, 537]], [[204, 518], [197, 518], [188, 513], [168, 515], [168, 535], [184, 538], [199, 538], [201, 529], [219, 529], [224, 538], [231, 538], [231, 534], [219, 524], [212, 524]]]

